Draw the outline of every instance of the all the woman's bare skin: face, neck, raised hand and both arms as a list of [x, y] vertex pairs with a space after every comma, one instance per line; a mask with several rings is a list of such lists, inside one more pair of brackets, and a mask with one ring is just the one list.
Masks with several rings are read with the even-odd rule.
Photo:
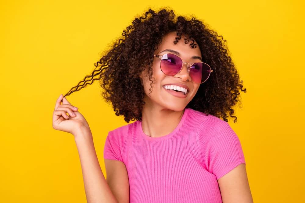
[[[192, 56], [201, 56], [201, 51], [198, 47], [191, 48], [189, 44], [185, 44], [184, 36], [177, 44], [174, 44], [175, 37], [175, 32], [167, 34], [155, 54], [170, 53], [169, 51], [161, 53], [161, 51], [172, 49], [180, 53], [177, 55], [181, 57], [183, 62], [193, 63], [200, 61], [199, 59], [191, 59]], [[152, 93], [150, 95], [150, 81], [147, 72], [144, 71], [141, 75], [146, 94], [144, 98], [146, 103], [142, 110], [142, 129], [147, 136], [160, 137], [169, 134], [177, 127], [185, 107], [195, 96], [200, 84], [192, 82], [186, 65], [183, 65], [181, 72], [174, 76], [163, 74], [160, 70], [160, 58], [154, 58], [152, 68], [152, 76], [155, 80], [152, 84]], [[166, 84], [176, 82], [188, 86], [189, 93], [186, 98], [173, 96], [163, 88]], [[63, 104], [61, 104], [61, 101]], [[66, 98], [63, 98], [62, 94], [56, 100], [52, 125], [54, 129], [69, 132], [75, 137], [87, 202], [129, 202], [129, 183], [126, 166], [121, 161], [105, 159], [107, 180], [105, 179], [99, 166], [87, 121], [77, 108], [71, 105]], [[242, 163], [236, 166], [217, 181], [224, 203], [253, 202], [245, 164]]]

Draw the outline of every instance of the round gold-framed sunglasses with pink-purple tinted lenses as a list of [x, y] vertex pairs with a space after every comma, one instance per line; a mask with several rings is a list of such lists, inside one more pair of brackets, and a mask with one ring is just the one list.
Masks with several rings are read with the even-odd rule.
[[[182, 59], [175, 55], [175, 54], [163, 54], [163, 55], [153, 55], [154, 57], [161, 58], [160, 60], [160, 68], [161, 71], [165, 75], [173, 76], [178, 74], [183, 64], [189, 64], [186, 62], [182, 62]], [[190, 75], [191, 79], [195, 83], [203, 83], [209, 78], [210, 73], [213, 72], [211, 67], [203, 62], [196, 62], [191, 64], [188, 67], [188, 74]]]

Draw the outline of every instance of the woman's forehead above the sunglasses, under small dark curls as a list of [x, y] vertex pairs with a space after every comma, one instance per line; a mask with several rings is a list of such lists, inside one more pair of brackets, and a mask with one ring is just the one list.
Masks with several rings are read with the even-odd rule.
[[181, 55], [184, 56], [193, 56], [193, 55], [198, 55], [201, 56], [201, 51], [200, 48], [196, 42], [196, 40], [194, 41], [195, 44], [197, 44], [196, 48], [192, 48], [191, 47], [191, 43], [193, 42], [192, 40], [188, 39], [188, 44], [185, 44], [185, 38], [188, 38], [188, 36], [185, 35], [181, 35], [181, 39], [178, 40], [177, 44], [174, 44], [175, 41], [175, 37], [177, 37], [176, 32], [170, 32], [168, 34], [166, 34], [165, 36], [163, 36], [162, 38], [162, 42], [159, 44], [158, 49], [156, 50], [156, 52], [160, 52], [163, 51], [164, 49], [172, 49], [175, 51], [178, 51]]

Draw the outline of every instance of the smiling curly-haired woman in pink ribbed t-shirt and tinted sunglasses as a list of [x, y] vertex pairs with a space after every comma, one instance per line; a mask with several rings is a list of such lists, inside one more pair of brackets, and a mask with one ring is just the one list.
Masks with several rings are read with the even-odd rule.
[[227, 123], [228, 113], [236, 121], [231, 107], [246, 89], [225, 40], [166, 9], [149, 9], [122, 35], [89, 80], [65, 95], [100, 80], [115, 114], [135, 121], [109, 131], [107, 180], [82, 114], [63, 95], [53, 112], [53, 128], [74, 135], [87, 201], [253, 202], [242, 147]]

